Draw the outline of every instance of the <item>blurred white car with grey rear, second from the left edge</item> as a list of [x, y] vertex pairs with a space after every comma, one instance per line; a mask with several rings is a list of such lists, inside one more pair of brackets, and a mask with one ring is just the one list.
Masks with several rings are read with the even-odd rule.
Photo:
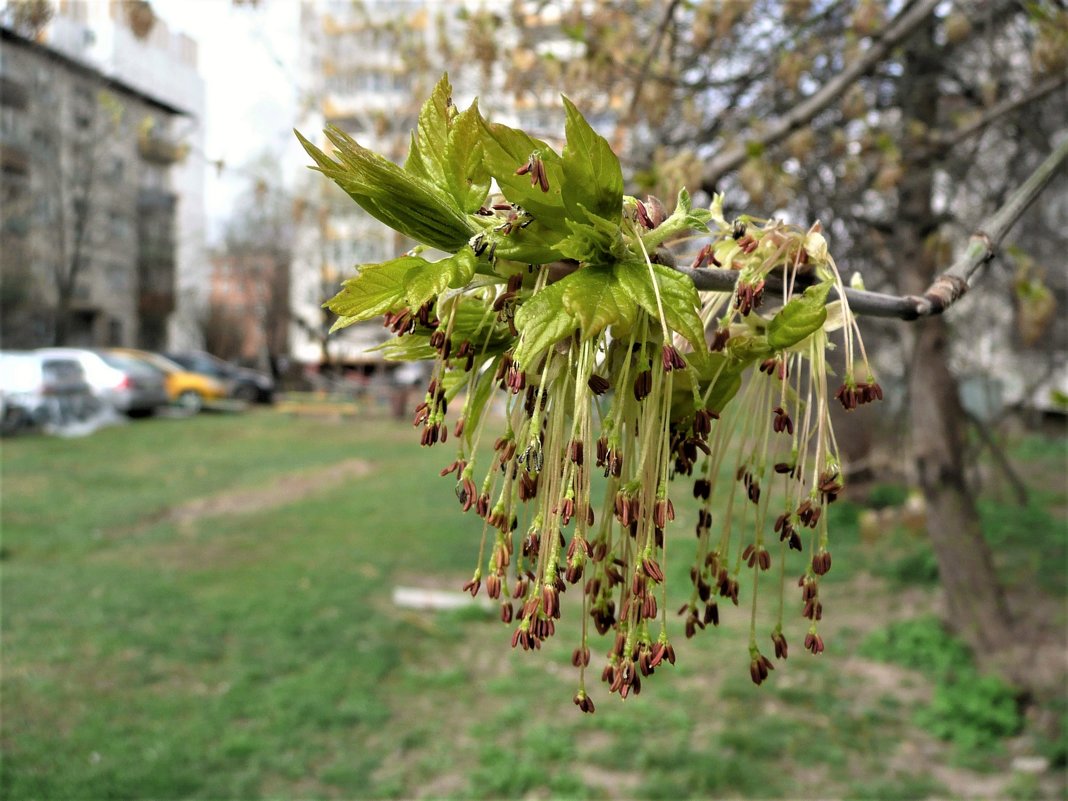
[[169, 400], [163, 374], [128, 356], [82, 348], [42, 348], [35, 352], [76, 360], [93, 394], [115, 411], [142, 417], [155, 413]]

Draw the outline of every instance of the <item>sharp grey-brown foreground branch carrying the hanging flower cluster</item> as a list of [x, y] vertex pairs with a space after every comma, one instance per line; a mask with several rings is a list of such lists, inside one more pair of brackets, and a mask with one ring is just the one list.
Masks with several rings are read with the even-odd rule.
[[[971, 241], [964, 253], [943, 272], [923, 295], [884, 295], [875, 292], [846, 289], [849, 308], [857, 314], [869, 317], [895, 317], [914, 320], [941, 314], [968, 290], [972, 276], [994, 257], [1002, 239], [1009, 229], [1041, 193], [1057, 170], [1068, 161], [1068, 130], [1062, 131], [1061, 144], [1057, 145], [1031, 176], [1017, 188], [1005, 204], [983, 221], [972, 234]], [[703, 292], [733, 292], [738, 272], [725, 269], [690, 269], [675, 267], [676, 270], [691, 278], [694, 286]], [[772, 277], [768, 286], [774, 285]], [[831, 290], [830, 299], [838, 297], [836, 290]]]

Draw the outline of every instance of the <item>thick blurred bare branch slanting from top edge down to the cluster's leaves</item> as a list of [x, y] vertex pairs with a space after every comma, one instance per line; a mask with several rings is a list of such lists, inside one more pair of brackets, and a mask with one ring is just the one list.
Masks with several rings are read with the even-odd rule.
[[752, 145], [767, 146], [782, 141], [838, 99], [853, 81], [874, 69], [891, 50], [916, 30], [938, 4], [939, 0], [920, 0], [912, 7], [901, 12], [883, 34], [875, 38], [871, 46], [860, 59], [824, 83], [819, 91], [769, 124], [767, 129], [756, 138], [728, 147], [712, 158], [702, 178], [702, 188], [711, 194], [724, 175], [744, 163]]

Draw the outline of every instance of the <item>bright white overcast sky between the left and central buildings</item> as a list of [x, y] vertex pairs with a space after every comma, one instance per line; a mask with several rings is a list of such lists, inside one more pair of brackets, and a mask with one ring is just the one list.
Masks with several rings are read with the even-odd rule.
[[304, 159], [293, 128], [297, 122], [298, 0], [262, 0], [258, 6], [231, 0], [154, 0], [153, 10], [199, 46], [205, 87], [208, 167], [205, 210], [209, 236], [218, 235], [235, 199], [247, 189], [248, 164], [269, 153], [278, 180], [292, 185]]

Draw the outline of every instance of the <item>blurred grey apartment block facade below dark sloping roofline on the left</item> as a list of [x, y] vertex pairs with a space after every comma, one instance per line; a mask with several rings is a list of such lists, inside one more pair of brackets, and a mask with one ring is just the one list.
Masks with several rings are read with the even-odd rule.
[[3, 28], [0, 334], [162, 349], [187, 112]]

